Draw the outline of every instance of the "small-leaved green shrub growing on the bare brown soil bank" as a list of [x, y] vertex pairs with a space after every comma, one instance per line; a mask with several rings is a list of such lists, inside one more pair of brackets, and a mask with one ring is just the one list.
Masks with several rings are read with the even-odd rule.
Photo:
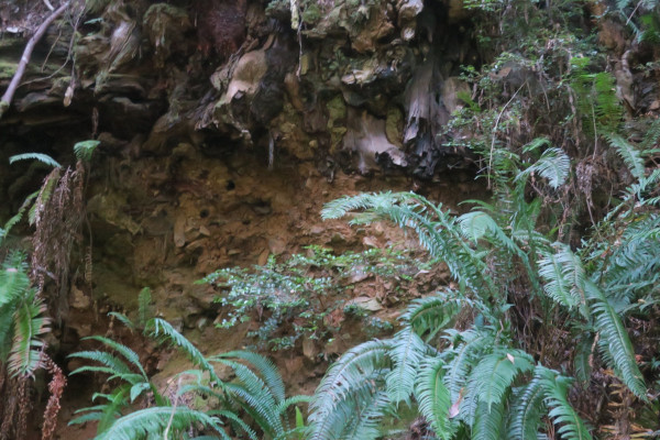
[[426, 266], [406, 253], [392, 250], [334, 255], [320, 246], [307, 249], [308, 254], [293, 255], [283, 263], [271, 256], [265, 265], [254, 266], [252, 272], [223, 268], [201, 279], [199, 283], [228, 289], [217, 298], [222, 306], [229, 306], [219, 327], [232, 328], [249, 321], [258, 310], [260, 328], [249, 336], [256, 338], [262, 346], [289, 349], [302, 336], [323, 339], [336, 330], [324, 318], [343, 308], [339, 294], [345, 288], [367, 276], [405, 285], [411, 280], [410, 274]]

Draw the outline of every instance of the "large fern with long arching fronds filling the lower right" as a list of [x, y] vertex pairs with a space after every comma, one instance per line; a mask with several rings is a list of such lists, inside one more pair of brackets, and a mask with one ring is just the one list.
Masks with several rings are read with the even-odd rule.
[[[557, 346], [554, 326], [572, 329], [579, 376], [590, 376], [597, 348], [627, 388], [648, 399], [623, 316], [657, 300], [660, 215], [649, 209], [657, 197], [641, 188], [653, 187], [649, 180], [658, 182], [660, 172], [646, 176], [640, 156], [629, 155], [637, 183], [572, 250], [553, 242], [556, 230], [540, 222], [551, 212], [542, 213], [527, 190], [532, 176], [544, 178], [551, 193], [570, 175], [561, 150], [538, 154], [544, 144], [537, 140], [524, 148], [538, 157], [531, 164], [495, 147], [490, 169], [496, 202], [479, 202], [462, 216], [404, 193], [326, 206], [324, 218], [364, 210], [352, 224], [389, 219], [413, 229], [448, 265], [458, 289], [414, 301], [393, 339], [358, 345], [331, 366], [310, 406], [311, 439], [377, 438], [403, 405], [417, 408], [442, 439], [536, 439], [542, 417], [563, 439], [588, 439], [568, 398], [572, 380], [556, 371], [561, 354], [547, 349]], [[466, 309], [470, 328], [452, 328]], [[534, 322], [518, 318], [524, 316]]]

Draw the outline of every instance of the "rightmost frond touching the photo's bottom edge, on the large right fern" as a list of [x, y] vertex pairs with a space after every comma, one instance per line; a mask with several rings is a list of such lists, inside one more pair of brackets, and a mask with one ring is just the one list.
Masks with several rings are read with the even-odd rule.
[[[542, 367], [541, 367], [542, 369]], [[591, 440], [584, 421], [573, 409], [566, 397], [571, 380], [548, 369], [537, 369], [542, 375], [541, 384], [546, 389], [546, 405], [550, 407], [549, 416], [558, 432], [564, 440]]]

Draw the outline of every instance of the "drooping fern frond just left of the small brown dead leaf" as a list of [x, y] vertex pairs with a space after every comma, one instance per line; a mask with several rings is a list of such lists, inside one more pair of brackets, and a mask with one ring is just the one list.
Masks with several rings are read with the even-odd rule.
[[419, 411], [431, 425], [442, 440], [449, 440], [453, 433], [449, 420], [451, 406], [449, 389], [442, 383], [444, 362], [439, 358], [426, 359], [417, 374], [415, 399], [419, 403]]

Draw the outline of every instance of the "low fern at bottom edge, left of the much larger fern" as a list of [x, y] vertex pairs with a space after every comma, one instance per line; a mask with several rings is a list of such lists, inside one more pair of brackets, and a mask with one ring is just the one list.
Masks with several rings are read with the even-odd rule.
[[[141, 310], [147, 302], [148, 290], [143, 289]], [[140, 323], [133, 324], [127, 316], [114, 316], [131, 329], [141, 327]], [[144, 311], [141, 311], [140, 319], [143, 318]], [[106, 374], [114, 387], [109, 393], [96, 393], [92, 400], [101, 403], [78, 410], [81, 415], [70, 424], [97, 421], [96, 439], [179, 439], [201, 431], [207, 432], [210, 436], [208, 438], [229, 440], [231, 437], [226, 426], [241, 432], [243, 438], [254, 440], [297, 438], [300, 429], [289, 427], [287, 411], [293, 406], [307, 402], [307, 398], [285, 398], [284, 383], [267, 359], [246, 351], [207, 358], [160, 318], [146, 320], [143, 323], [143, 334], [158, 343], [167, 342], [177, 346], [196, 369], [175, 375], [173, 380], [178, 383], [177, 389], [167, 394], [153, 384], [140, 355], [129, 346], [105, 337], [87, 338], [102, 343], [106, 350], [72, 354], [70, 358], [95, 363], [75, 370], [72, 375], [88, 372]], [[230, 367], [235, 380], [222, 381], [216, 374], [213, 364]], [[218, 408], [195, 407], [195, 396], [216, 399]], [[139, 400], [146, 407], [136, 409]], [[249, 422], [240, 417], [241, 410], [249, 416]], [[260, 437], [253, 426], [262, 431]]]

